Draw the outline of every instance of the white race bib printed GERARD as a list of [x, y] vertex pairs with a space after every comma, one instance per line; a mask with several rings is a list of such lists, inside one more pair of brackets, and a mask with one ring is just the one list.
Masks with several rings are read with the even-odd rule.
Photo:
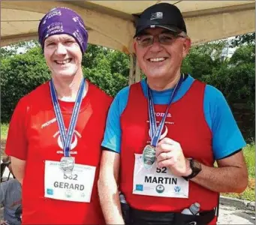
[[45, 161], [44, 196], [72, 202], [90, 202], [95, 166], [74, 164], [72, 175], [65, 175], [58, 161]]

